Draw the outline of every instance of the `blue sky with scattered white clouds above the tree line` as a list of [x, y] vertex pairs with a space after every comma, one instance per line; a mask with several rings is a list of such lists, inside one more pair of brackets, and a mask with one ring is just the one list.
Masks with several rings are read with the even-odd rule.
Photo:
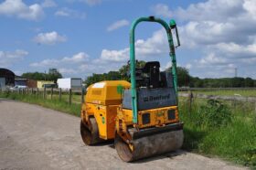
[[[0, 68], [85, 79], [129, 60], [134, 19], [175, 19], [177, 65], [199, 78], [256, 79], [255, 0], [0, 0]], [[135, 30], [136, 59], [171, 66], [159, 24]]]

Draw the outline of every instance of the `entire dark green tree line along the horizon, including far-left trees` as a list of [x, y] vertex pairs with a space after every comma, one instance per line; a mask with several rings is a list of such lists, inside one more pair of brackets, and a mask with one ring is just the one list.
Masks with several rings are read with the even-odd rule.
[[[136, 62], [136, 68], [144, 67], [146, 62], [139, 60]], [[102, 74], [92, 74], [84, 83], [87, 86], [102, 80], [128, 80], [129, 77], [129, 64], [123, 65], [117, 71], [109, 71]], [[171, 68], [165, 69], [171, 71]], [[57, 69], [49, 69], [48, 73], [43, 72], [27, 72], [22, 74], [23, 78], [30, 80], [53, 80], [55, 83], [62, 75]], [[251, 78], [220, 78], [220, 79], [200, 79], [193, 77], [189, 74], [188, 69], [177, 67], [177, 84], [178, 87], [191, 87], [191, 88], [241, 88], [241, 87], [256, 87], [256, 80]]]

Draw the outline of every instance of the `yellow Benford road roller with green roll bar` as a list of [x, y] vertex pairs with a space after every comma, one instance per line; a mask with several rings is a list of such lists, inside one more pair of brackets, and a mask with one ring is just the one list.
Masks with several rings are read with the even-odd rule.
[[[172, 69], [160, 71], [158, 61], [136, 67], [134, 30], [141, 22], [155, 22], [165, 28]], [[140, 17], [130, 30], [130, 82], [105, 80], [91, 84], [81, 106], [80, 134], [93, 145], [113, 140], [124, 162], [176, 151], [183, 144], [183, 122], [179, 120], [176, 44], [180, 46], [175, 20], [167, 24], [155, 16]]]

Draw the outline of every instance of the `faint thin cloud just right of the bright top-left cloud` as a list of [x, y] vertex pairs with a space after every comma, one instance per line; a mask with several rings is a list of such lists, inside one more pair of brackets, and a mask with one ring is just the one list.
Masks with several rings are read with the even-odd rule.
[[58, 11], [55, 12], [54, 15], [55, 16], [67, 16], [67, 17], [80, 18], [80, 19], [86, 18], [85, 13], [81, 13], [79, 11], [69, 9], [68, 7], [59, 9]]

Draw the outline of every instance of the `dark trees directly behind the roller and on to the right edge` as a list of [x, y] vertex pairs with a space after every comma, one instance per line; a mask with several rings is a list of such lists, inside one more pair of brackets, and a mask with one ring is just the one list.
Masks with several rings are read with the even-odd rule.
[[[136, 67], [141, 68], [145, 61], [140, 60], [136, 62]], [[127, 74], [129, 65], [123, 65], [118, 71], [109, 71], [103, 74], [92, 74], [85, 80], [87, 86], [101, 80], [128, 80], [130, 78]], [[165, 69], [171, 71], [171, 68]], [[256, 80], [251, 78], [219, 78], [219, 79], [200, 79], [189, 74], [188, 69], [177, 67], [177, 84], [179, 87], [191, 88], [241, 88], [241, 87], [256, 87]]]

